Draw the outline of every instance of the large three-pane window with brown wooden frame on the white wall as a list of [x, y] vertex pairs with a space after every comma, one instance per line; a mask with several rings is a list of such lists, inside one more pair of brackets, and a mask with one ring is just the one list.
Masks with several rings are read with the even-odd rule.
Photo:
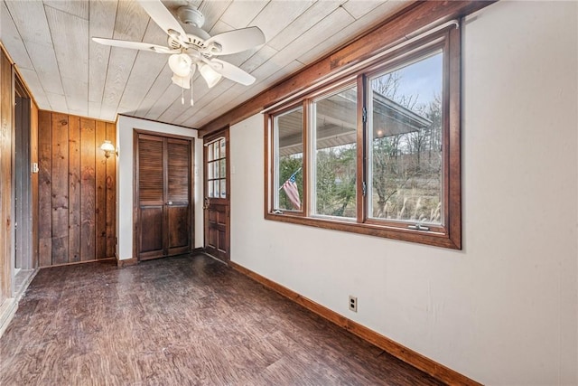
[[459, 32], [266, 113], [266, 219], [461, 249]]

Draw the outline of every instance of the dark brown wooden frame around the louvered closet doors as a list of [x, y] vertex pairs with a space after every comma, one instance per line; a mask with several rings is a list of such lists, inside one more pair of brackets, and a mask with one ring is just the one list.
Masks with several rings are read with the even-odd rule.
[[163, 132], [157, 131], [149, 131], [143, 130], [139, 128], [133, 129], [133, 259], [138, 263], [140, 262], [140, 258], [138, 255], [138, 246], [140, 243], [140, 232], [138, 229], [138, 225], [140, 223], [139, 219], [139, 189], [138, 189], [138, 181], [139, 181], [139, 174], [138, 174], [138, 136], [140, 134], [144, 134], [147, 136], [156, 136], [156, 137], [164, 137], [164, 138], [173, 138], [173, 139], [184, 139], [191, 142], [191, 170], [189, 171], [190, 181], [191, 184], [189, 186], [189, 209], [190, 209], [190, 219], [191, 221], [191, 252], [194, 249], [194, 242], [195, 242], [195, 205], [194, 205], [194, 187], [195, 187], [195, 138], [194, 137], [186, 137], [186, 136], [179, 136], [176, 134], [168, 134]]

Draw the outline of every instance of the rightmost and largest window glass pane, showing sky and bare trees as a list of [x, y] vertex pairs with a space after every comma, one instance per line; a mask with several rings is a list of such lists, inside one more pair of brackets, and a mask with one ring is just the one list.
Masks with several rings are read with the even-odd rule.
[[441, 224], [443, 53], [369, 82], [369, 217]]

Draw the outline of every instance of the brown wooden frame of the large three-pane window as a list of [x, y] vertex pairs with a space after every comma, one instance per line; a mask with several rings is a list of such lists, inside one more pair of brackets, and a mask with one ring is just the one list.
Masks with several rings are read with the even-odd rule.
[[[428, 231], [408, 229], [408, 221], [387, 221], [368, 218], [368, 197], [364, 197], [362, 184], [368, 180], [367, 146], [368, 127], [363, 122], [363, 108], [367, 106], [368, 75], [386, 71], [400, 63], [411, 61], [426, 52], [443, 48], [443, 221], [441, 226], [430, 227]], [[358, 178], [357, 183], [357, 219], [355, 221], [325, 218], [312, 215], [309, 204], [311, 192], [307, 182], [311, 183], [310, 156], [307, 141], [312, 127], [308, 123], [308, 114], [313, 99], [317, 99], [340, 83], [354, 76], [358, 87]], [[289, 99], [288, 99], [289, 100]], [[287, 108], [303, 106], [303, 212], [274, 212], [275, 178], [275, 117], [287, 111]], [[291, 222], [335, 231], [348, 231], [367, 234], [393, 240], [404, 240], [433, 245], [449, 249], [461, 249], [461, 34], [460, 29], [452, 25], [431, 33], [399, 50], [393, 50], [387, 56], [368, 64], [354, 74], [344, 74], [329, 84], [313, 89], [310, 93], [291, 99], [286, 105], [267, 111], [265, 114], [265, 218], [272, 221]]]

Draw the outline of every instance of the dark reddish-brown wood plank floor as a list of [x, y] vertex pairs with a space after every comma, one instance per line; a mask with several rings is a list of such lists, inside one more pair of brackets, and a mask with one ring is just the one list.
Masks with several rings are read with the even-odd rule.
[[0, 385], [439, 382], [204, 255], [42, 269]]

